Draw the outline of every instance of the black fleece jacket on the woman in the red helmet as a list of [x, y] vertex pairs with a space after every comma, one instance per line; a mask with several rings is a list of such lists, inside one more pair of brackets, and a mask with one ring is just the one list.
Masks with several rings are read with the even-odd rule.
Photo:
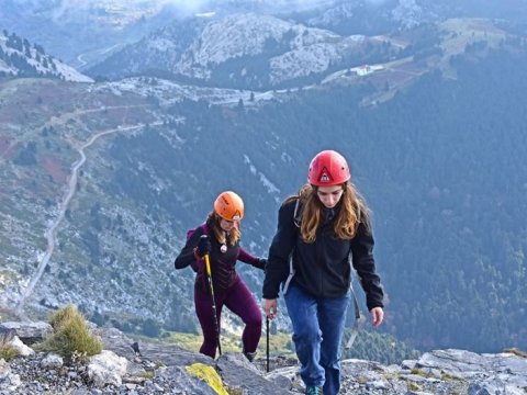
[[339, 297], [346, 294], [351, 281], [349, 256], [362, 289], [368, 309], [383, 307], [383, 291], [375, 273], [373, 236], [360, 224], [351, 240], [337, 239], [333, 222], [340, 206], [325, 211], [323, 225], [312, 244], [302, 241], [300, 228], [294, 224], [295, 201], [283, 204], [278, 213], [278, 229], [269, 249], [264, 280], [264, 298], [278, 297], [280, 284], [289, 275], [292, 256], [295, 274], [292, 283], [316, 297]]

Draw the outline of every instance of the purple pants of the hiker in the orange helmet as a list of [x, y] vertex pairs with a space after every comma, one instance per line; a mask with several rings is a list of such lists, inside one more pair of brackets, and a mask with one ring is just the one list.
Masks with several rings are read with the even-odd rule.
[[[214, 290], [215, 291], [215, 290]], [[236, 314], [245, 324], [242, 342], [245, 352], [255, 352], [261, 336], [261, 312], [249, 289], [239, 276], [235, 283], [222, 293], [216, 293], [217, 323], [221, 324], [223, 306]], [[203, 345], [200, 352], [211, 358], [216, 357], [217, 336], [212, 311], [212, 300], [209, 293], [194, 287], [195, 314], [203, 330]]]

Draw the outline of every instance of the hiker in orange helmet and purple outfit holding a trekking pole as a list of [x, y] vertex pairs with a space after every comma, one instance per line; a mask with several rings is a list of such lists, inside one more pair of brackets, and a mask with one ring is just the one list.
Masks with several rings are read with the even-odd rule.
[[[218, 348], [223, 306], [236, 314], [245, 324], [242, 336], [244, 354], [253, 361], [261, 336], [261, 312], [247, 285], [236, 273], [237, 260], [258, 269], [266, 266], [239, 247], [239, 222], [244, 217], [244, 202], [236, 193], [221, 193], [209, 213], [205, 224], [199, 226], [188, 238], [176, 258], [176, 269], [188, 266], [197, 273], [194, 282], [195, 314], [203, 330], [200, 352], [215, 358]], [[204, 236], [204, 237], [202, 237]], [[204, 257], [209, 255], [212, 289], [208, 282]], [[213, 298], [215, 308], [213, 308]], [[214, 316], [214, 311], [216, 316]]]

